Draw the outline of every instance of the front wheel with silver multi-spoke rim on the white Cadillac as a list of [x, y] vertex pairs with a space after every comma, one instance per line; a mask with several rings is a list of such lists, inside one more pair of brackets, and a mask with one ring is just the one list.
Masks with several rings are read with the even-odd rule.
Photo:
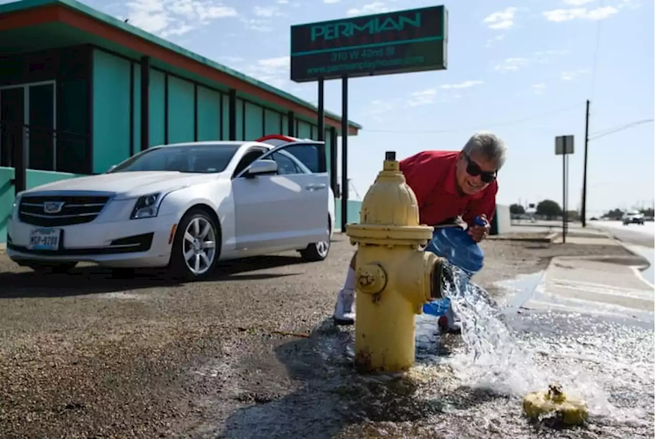
[[170, 275], [183, 280], [206, 278], [214, 271], [220, 252], [221, 233], [215, 219], [202, 208], [191, 208], [175, 233]]

